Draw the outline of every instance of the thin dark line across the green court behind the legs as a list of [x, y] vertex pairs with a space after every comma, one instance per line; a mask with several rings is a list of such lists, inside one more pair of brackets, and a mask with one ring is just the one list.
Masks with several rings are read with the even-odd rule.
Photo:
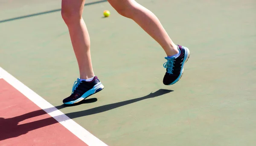
[[[84, 6], [89, 6], [89, 5], [93, 5], [93, 4], [97, 4], [97, 3], [103, 3], [103, 2], [107, 2], [107, 1], [108, 0], [100, 0], [100, 1], [96, 1], [96, 2], [85, 3]], [[29, 14], [29, 15], [15, 17], [15, 18], [10, 18], [10, 19], [6, 19], [6, 20], [0, 20], [0, 23], [12, 21], [12, 20], [23, 19], [23, 18], [27, 18], [27, 17], [38, 16], [38, 15], [42, 15], [42, 14], [53, 13], [53, 12], [56, 12], [56, 11], [61, 11], [61, 9], [55, 9], [55, 10], [51, 10], [51, 11], [43, 11], [43, 12], [40, 12], [40, 13]]]

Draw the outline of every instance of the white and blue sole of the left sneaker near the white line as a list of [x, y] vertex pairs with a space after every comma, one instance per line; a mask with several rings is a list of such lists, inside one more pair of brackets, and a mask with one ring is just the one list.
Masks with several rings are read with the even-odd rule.
[[88, 90], [87, 92], [85, 92], [80, 98], [78, 98], [77, 100], [74, 101], [70, 101], [64, 104], [75, 104], [75, 103], [79, 103], [80, 101], [84, 100], [85, 98], [102, 91], [102, 89], [104, 89], [104, 86], [102, 85], [101, 82], [97, 83], [96, 85], [93, 86], [92, 89]]

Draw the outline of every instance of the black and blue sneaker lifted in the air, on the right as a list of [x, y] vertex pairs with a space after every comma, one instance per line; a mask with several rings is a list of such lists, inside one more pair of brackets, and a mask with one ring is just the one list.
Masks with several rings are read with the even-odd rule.
[[183, 66], [186, 61], [189, 59], [189, 49], [177, 45], [178, 49], [180, 49], [180, 55], [176, 57], [165, 57], [167, 60], [166, 63], [163, 64], [163, 67], [166, 68], [166, 74], [163, 77], [163, 84], [165, 85], [173, 85], [180, 80], [183, 74]]

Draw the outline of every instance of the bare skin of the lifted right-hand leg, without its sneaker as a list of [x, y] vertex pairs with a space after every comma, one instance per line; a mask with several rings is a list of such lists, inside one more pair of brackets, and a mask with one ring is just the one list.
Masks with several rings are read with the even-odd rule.
[[116, 11], [124, 17], [134, 20], [144, 31], [156, 40], [167, 56], [178, 53], [177, 46], [172, 42], [158, 18], [135, 0], [108, 0]]

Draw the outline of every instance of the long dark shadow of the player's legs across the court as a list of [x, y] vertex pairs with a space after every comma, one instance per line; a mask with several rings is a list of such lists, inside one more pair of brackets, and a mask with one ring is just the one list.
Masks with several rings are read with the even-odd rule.
[[[87, 109], [84, 111], [79, 111], [79, 112], [72, 112], [72, 113], [68, 113], [66, 114], [68, 117], [70, 117], [71, 119], [76, 118], [76, 117], [82, 117], [82, 116], [87, 116], [87, 115], [93, 115], [93, 114], [97, 114], [97, 113], [101, 113], [101, 112], [106, 112], [108, 110], [111, 109], [116, 109], [118, 107], [121, 106], [125, 106], [131, 103], [135, 103], [141, 100], [145, 100], [145, 99], [149, 99], [149, 98], [154, 98], [154, 97], [158, 97], [161, 96], [163, 94], [167, 94], [172, 92], [172, 90], [166, 90], [166, 89], [159, 89], [158, 91], [154, 92], [154, 93], [150, 93], [146, 96], [143, 97], [139, 97], [139, 98], [135, 98], [135, 99], [131, 99], [131, 100], [126, 100], [126, 101], [122, 101], [122, 102], [118, 102], [118, 103], [112, 103], [112, 104], [108, 104], [108, 105], [104, 105], [104, 106], [99, 106], [99, 107], [95, 107], [92, 109]], [[91, 98], [91, 99], [87, 99], [87, 100], [83, 100], [81, 101], [79, 104], [87, 104], [87, 103], [93, 103], [96, 102], [97, 98]], [[77, 104], [78, 105], [78, 104]], [[67, 106], [65, 105], [61, 105], [61, 106], [55, 106], [57, 109], [63, 109]], [[44, 110], [49, 110], [49, 109], [44, 109]], [[49, 117], [46, 119], [42, 119], [42, 120], [38, 120], [38, 121], [34, 121], [34, 122], [30, 122], [30, 123], [25, 123], [25, 124], [20, 124], [18, 125], [18, 123], [20, 121], [32, 118], [32, 117], [37, 117], [40, 115], [44, 115], [47, 114], [44, 110], [37, 110], [34, 112], [29, 112], [26, 113], [24, 115], [20, 115], [17, 117], [12, 117], [12, 118], [8, 118], [8, 119], [4, 119], [2, 117], [0, 117], [0, 140], [5, 140], [5, 139], [9, 139], [12, 137], [18, 137], [20, 135], [24, 135], [29, 131], [44, 127], [44, 126], [49, 126], [55, 123], [58, 123], [57, 120], [55, 120], [54, 118], [58, 118], [61, 117], [62, 115], [59, 115], [57, 117]], [[63, 119], [62, 120], [67, 120], [67, 119]]]

